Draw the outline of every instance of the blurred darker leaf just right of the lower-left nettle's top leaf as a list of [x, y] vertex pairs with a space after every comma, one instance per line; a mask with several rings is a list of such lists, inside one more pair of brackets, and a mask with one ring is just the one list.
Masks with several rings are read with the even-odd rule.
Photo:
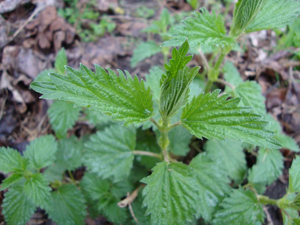
[[81, 167], [83, 163], [83, 142], [75, 136], [58, 142], [56, 164], [64, 166], [64, 170], [74, 170]]

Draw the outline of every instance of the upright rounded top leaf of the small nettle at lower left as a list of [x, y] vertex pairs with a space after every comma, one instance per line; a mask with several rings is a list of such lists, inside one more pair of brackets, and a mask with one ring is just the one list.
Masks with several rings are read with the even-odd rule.
[[44, 135], [31, 141], [26, 146], [24, 157], [29, 160], [29, 166], [33, 169], [50, 166], [55, 160], [57, 143], [53, 135]]

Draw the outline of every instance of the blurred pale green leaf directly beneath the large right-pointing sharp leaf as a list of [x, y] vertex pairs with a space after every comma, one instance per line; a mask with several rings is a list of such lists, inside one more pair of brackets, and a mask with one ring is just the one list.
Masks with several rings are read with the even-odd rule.
[[204, 149], [209, 158], [217, 161], [218, 165], [222, 165], [235, 183], [239, 184], [244, 179], [247, 163], [240, 141], [230, 139], [226, 139], [225, 142], [208, 140]]

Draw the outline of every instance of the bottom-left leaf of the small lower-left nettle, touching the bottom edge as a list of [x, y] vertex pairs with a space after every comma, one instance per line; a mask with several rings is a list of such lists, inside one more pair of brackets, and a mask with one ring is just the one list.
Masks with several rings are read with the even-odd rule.
[[23, 225], [35, 212], [36, 206], [27, 200], [22, 185], [9, 188], [4, 194], [2, 214], [8, 224]]

